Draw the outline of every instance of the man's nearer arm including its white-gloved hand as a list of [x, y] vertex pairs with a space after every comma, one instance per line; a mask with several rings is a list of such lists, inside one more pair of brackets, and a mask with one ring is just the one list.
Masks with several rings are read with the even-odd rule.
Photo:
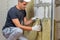
[[33, 27], [30, 27], [30, 26], [23, 26], [20, 24], [18, 18], [16, 19], [12, 19], [12, 22], [18, 27], [18, 28], [21, 28], [23, 30], [27, 30], [27, 31], [40, 31], [40, 25], [34, 25]]

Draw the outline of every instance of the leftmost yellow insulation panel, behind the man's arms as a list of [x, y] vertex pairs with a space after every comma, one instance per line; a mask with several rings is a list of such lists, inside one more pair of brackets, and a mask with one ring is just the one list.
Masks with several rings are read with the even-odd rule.
[[[30, 3], [28, 3], [27, 8], [26, 8], [26, 17], [27, 20], [29, 20], [31, 17], [34, 16], [34, 0], [31, 0]], [[30, 24], [32, 26], [33, 24]], [[37, 32], [36, 31], [24, 31], [24, 35], [28, 38], [28, 40], [35, 40], [37, 37]]]

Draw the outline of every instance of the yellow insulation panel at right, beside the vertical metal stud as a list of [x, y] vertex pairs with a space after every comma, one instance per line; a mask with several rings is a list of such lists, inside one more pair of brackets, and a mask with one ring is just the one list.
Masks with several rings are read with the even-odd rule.
[[51, 20], [46, 18], [42, 22], [42, 40], [50, 40]]

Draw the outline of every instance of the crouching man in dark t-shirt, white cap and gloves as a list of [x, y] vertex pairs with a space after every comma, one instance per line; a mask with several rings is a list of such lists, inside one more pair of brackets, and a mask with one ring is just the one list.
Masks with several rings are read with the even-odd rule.
[[23, 30], [26, 31], [40, 31], [40, 25], [35, 25], [33, 27], [24, 26], [29, 25], [34, 20], [35, 17], [30, 20], [26, 19], [25, 8], [28, 2], [31, 0], [18, 0], [18, 5], [12, 7], [7, 14], [7, 20], [5, 26], [3, 27], [3, 35], [7, 38], [7, 40], [28, 40], [23, 35]]

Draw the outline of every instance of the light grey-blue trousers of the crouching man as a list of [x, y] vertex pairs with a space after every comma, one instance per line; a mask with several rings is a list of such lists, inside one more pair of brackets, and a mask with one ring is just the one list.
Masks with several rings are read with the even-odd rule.
[[17, 27], [9, 27], [5, 28], [2, 30], [3, 36], [7, 40], [28, 40], [24, 35], [23, 35], [23, 30], [21, 28]]

